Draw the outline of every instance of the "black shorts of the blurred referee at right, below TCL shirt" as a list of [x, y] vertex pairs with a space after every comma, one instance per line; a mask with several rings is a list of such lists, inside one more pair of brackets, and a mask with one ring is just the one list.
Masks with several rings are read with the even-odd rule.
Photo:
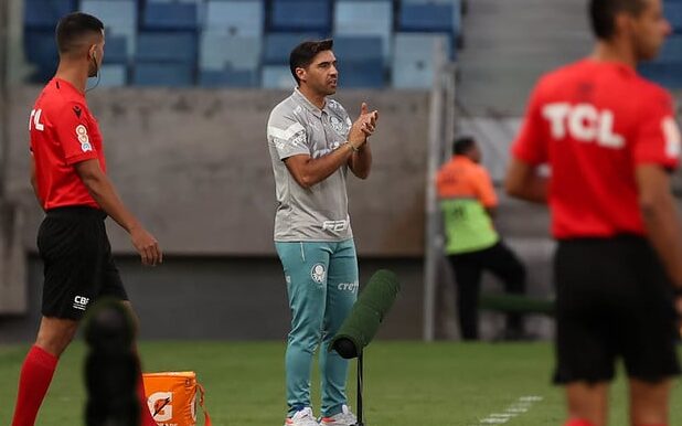
[[647, 239], [561, 241], [554, 274], [555, 383], [610, 381], [617, 359], [651, 383], [680, 373], [673, 289]]

